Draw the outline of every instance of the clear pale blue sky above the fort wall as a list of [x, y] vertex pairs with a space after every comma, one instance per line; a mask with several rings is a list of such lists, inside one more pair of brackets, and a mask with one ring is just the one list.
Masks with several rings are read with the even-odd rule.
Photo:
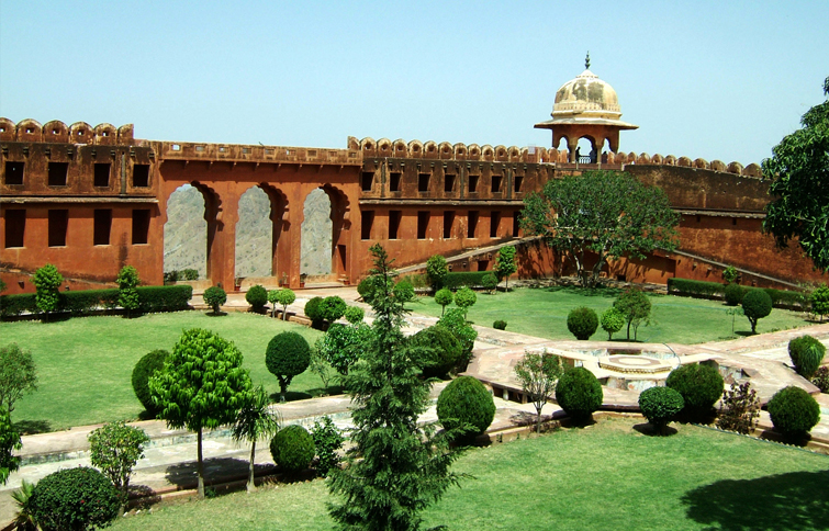
[[0, 0], [0, 115], [138, 138], [548, 146], [557, 89], [616, 89], [620, 149], [747, 165], [824, 100], [829, 1]]

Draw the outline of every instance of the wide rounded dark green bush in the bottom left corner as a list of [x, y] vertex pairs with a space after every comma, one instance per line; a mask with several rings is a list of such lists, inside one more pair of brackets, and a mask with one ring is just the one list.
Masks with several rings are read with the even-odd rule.
[[41, 529], [86, 530], [104, 528], [117, 517], [115, 487], [94, 468], [65, 468], [35, 485], [26, 505]]

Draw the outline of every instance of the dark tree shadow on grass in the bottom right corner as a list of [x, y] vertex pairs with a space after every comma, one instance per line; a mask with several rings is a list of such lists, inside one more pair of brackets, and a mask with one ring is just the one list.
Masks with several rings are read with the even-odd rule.
[[829, 529], [829, 470], [724, 479], [685, 493], [687, 518], [710, 529]]

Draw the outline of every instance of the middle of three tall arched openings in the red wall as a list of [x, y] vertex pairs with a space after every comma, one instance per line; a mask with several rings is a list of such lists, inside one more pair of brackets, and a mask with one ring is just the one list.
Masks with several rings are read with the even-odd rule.
[[236, 223], [236, 276], [271, 276], [273, 274], [273, 223], [271, 201], [259, 187], [248, 189], [239, 197], [239, 221]]

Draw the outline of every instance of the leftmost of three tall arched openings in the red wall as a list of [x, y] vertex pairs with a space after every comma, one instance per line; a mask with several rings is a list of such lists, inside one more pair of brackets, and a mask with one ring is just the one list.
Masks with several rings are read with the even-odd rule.
[[[164, 225], [164, 272], [194, 269], [208, 278], [208, 222], [204, 192], [182, 184], [167, 200]], [[181, 279], [183, 280], [183, 279]]]

